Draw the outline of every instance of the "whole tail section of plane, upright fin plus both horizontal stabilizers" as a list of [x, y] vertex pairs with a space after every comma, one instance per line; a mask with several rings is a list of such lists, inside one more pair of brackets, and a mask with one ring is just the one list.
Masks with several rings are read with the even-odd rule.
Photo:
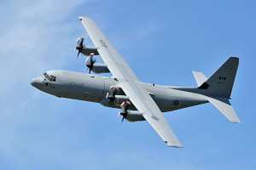
[[204, 95], [207, 100], [218, 109], [218, 111], [230, 120], [230, 122], [240, 123], [240, 120], [236, 116], [236, 112], [229, 101], [238, 63], [238, 58], [230, 57], [230, 59], [227, 59], [208, 79], [203, 73], [193, 71], [195, 81], [199, 88], [175, 87], [173, 89]]

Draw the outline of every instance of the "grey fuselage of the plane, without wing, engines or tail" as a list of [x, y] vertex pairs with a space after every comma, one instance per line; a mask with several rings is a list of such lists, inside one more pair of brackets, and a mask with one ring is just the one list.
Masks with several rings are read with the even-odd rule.
[[[31, 83], [35, 88], [60, 98], [96, 102], [113, 108], [120, 108], [119, 105], [124, 101], [115, 99], [112, 104], [109, 103], [109, 99], [106, 99], [109, 87], [112, 85], [118, 87], [119, 80], [114, 77], [56, 70], [47, 71], [44, 75], [34, 78]], [[148, 91], [162, 112], [208, 102], [204, 95], [173, 89], [174, 87], [145, 82], [137, 82], [136, 84]], [[125, 94], [119, 89], [116, 96], [118, 95], [124, 96]], [[136, 108], [131, 105], [130, 110], [136, 110]]]

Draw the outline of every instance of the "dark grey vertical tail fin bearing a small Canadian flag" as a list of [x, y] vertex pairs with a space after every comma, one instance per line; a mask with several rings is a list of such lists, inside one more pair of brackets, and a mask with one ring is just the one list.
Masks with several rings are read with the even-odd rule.
[[207, 89], [208, 95], [230, 98], [238, 64], [238, 58], [230, 57], [199, 88]]

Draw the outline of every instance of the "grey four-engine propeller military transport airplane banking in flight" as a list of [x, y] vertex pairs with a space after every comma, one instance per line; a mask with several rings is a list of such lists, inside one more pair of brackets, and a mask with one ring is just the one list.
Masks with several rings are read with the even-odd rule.
[[[112, 77], [74, 71], [46, 71], [32, 79], [32, 86], [59, 98], [79, 99], [121, 109], [122, 122], [148, 121], [160, 138], [170, 147], [183, 148], [162, 112], [210, 102], [230, 122], [240, 123], [230, 104], [230, 94], [236, 77], [239, 59], [230, 57], [211, 77], [193, 71], [198, 87], [182, 88], [140, 82], [120, 56], [108, 37], [94, 20], [79, 17], [95, 47], [84, 45], [84, 37], [77, 40], [79, 54], [89, 55], [86, 66], [97, 74], [111, 73]], [[78, 54], [78, 56], [79, 56]], [[96, 63], [100, 55], [104, 64]]]

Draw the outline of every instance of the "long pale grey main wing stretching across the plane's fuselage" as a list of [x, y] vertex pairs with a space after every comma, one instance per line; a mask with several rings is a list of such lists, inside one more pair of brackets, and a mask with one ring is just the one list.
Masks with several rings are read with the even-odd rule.
[[166, 122], [159, 107], [154, 103], [148, 92], [138, 85], [137, 76], [131, 71], [131, 68], [125, 63], [125, 60], [117, 50], [113, 48], [113, 45], [108, 41], [101, 29], [89, 18], [79, 17], [79, 19], [88, 32], [91, 41], [98, 48], [103, 61], [108, 65], [108, 70], [113, 74], [113, 77], [118, 78], [119, 87], [123, 89], [132, 104], [136, 106], [138, 111], [143, 113], [144, 118], [167, 145], [183, 147], [172, 132], [172, 128]]

